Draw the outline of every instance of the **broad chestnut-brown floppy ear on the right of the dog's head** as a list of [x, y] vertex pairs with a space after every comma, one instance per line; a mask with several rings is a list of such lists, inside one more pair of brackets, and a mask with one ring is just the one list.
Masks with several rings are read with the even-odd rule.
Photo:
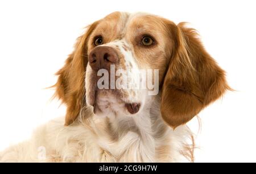
[[195, 29], [185, 28], [185, 23], [170, 23], [168, 28], [174, 50], [163, 82], [161, 113], [176, 128], [230, 88], [225, 71], [205, 51]]

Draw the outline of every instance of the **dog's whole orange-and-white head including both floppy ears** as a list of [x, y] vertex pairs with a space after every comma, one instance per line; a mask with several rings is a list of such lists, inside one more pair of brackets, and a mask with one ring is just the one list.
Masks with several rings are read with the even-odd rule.
[[98, 116], [135, 116], [148, 95], [159, 95], [163, 120], [176, 128], [229, 89], [194, 29], [150, 14], [114, 12], [94, 22], [57, 75], [65, 125], [86, 105]]

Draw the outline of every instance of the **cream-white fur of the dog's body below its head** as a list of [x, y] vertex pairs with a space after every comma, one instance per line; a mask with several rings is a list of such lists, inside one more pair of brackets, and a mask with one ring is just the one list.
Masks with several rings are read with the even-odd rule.
[[[106, 119], [112, 122], [113, 133], [122, 132], [120, 125], [130, 131], [113, 140], [105, 129]], [[159, 134], [163, 128], [166, 130]], [[64, 126], [64, 117], [50, 121], [29, 141], [7, 148], [0, 158], [1, 162], [180, 162], [184, 156], [179, 152], [190, 135], [186, 126], [172, 130], [164, 124], [159, 100], [154, 99], [133, 117], [98, 118], [92, 114], [71, 126]], [[168, 153], [159, 156], [156, 149], [160, 146], [167, 146]]]

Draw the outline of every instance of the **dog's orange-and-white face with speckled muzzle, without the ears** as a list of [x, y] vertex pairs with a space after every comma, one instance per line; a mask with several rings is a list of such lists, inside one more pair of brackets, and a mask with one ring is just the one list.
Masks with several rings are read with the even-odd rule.
[[[163, 20], [152, 15], [115, 12], [98, 22], [88, 39], [85, 78], [86, 103], [94, 107], [97, 116], [129, 116], [143, 109], [147, 95], [150, 95], [148, 90], [153, 89], [147, 85], [145, 88], [135, 86], [135, 83], [142, 79], [142, 83], [162, 82], [171, 57], [172, 40], [169, 37]], [[98, 76], [101, 69], [109, 74], [103, 89], [99, 89], [97, 83], [101, 79]], [[145, 74], [142, 74], [143, 70]], [[142, 77], [150, 73], [156, 79]], [[113, 87], [112, 77], [115, 77]], [[117, 80], [121, 82], [119, 87]], [[154, 90], [154, 95], [158, 95], [158, 90]]]

